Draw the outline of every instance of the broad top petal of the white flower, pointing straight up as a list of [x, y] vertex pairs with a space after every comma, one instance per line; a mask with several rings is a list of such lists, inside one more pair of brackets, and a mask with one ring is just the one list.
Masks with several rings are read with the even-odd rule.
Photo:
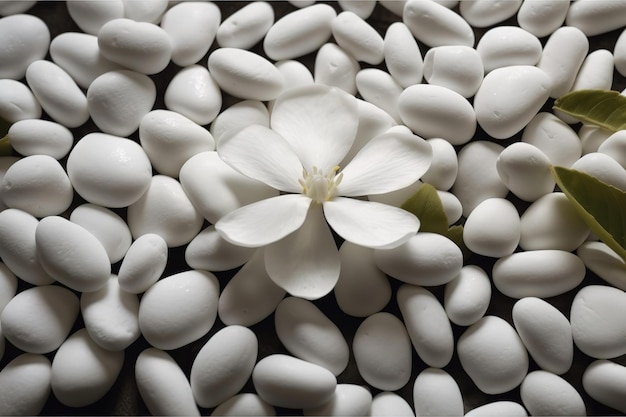
[[335, 167], [352, 147], [359, 116], [356, 99], [321, 84], [288, 90], [276, 99], [272, 129], [289, 142], [311, 172]]

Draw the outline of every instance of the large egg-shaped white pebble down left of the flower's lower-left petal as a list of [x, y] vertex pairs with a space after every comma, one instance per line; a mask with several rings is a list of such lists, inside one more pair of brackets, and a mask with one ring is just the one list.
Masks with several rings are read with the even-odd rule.
[[217, 317], [219, 282], [207, 271], [162, 278], [142, 296], [139, 328], [158, 349], [182, 347], [204, 336]]

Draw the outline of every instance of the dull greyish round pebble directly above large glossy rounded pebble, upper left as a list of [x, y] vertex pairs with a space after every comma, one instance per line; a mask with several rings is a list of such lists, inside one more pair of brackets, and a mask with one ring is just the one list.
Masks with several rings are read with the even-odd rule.
[[89, 114], [104, 133], [128, 136], [139, 128], [156, 101], [156, 86], [147, 75], [129, 70], [109, 71], [87, 90]]

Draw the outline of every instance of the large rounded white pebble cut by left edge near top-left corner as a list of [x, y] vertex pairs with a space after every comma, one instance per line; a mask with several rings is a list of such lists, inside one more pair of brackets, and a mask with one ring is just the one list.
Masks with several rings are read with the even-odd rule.
[[44, 59], [50, 45], [50, 31], [40, 18], [16, 14], [0, 19], [0, 78], [19, 80], [26, 68]]

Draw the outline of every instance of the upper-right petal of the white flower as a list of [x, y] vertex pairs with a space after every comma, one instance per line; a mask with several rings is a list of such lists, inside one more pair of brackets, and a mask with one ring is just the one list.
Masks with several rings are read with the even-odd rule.
[[428, 170], [432, 155], [424, 139], [391, 128], [369, 141], [341, 171], [337, 195], [382, 194], [409, 186]]

